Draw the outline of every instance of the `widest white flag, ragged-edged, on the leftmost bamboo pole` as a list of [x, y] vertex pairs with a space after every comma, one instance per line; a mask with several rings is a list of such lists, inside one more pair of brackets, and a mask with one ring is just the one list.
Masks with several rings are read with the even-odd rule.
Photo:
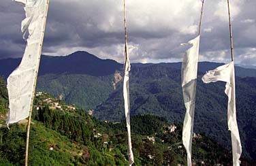
[[24, 39], [27, 31], [29, 37], [20, 65], [7, 78], [10, 103], [7, 125], [29, 116], [48, 7], [48, 0], [16, 0], [16, 2], [24, 5], [26, 18], [22, 20], [21, 31]]

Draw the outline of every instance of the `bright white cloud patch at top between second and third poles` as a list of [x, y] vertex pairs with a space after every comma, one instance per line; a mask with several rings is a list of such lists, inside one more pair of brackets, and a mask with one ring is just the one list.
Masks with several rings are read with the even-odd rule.
[[200, 3], [200, 0], [131, 0], [127, 4], [127, 23], [131, 31], [191, 29], [199, 18]]

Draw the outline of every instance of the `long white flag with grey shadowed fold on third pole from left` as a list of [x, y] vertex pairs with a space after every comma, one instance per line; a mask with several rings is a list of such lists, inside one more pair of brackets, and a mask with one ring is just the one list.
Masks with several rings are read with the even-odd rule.
[[193, 123], [195, 114], [195, 91], [197, 80], [197, 63], [199, 54], [200, 35], [189, 41], [192, 47], [187, 50], [182, 62], [181, 82], [182, 93], [186, 107], [182, 129], [182, 142], [187, 151], [187, 165], [191, 166], [191, 147], [193, 137]]

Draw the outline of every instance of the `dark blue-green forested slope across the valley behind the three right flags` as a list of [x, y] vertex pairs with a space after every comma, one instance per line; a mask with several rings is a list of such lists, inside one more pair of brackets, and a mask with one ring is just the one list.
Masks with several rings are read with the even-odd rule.
[[[133, 67], [130, 75], [131, 114], [154, 114], [182, 122], [185, 106], [182, 101], [180, 70], [153, 65]], [[227, 130], [227, 97], [225, 83], [204, 84], [199, 73], [195, 103], [195, 131], [231, 146]], [[255, 157], [256, 150], [256, 78], [236, 78], [236, 105], [238, 127], [244, 155]], [[95, 116], [99, 119], [124, 118], [122, 85], [110, 94], [106, 102], [97, 105]], [[252, 137], [253, 135], [253, 137]]]

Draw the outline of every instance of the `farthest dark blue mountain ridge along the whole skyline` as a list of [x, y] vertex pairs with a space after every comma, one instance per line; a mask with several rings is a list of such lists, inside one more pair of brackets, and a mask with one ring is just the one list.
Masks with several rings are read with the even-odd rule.
[[[10, 73], [18, 67], [21, 59], [0, 59], [0, 76], [5, 79]], [[214, 69], [224, 63], [199, 62], [198, 71], [205, 73], [210, 69]], [[163, 65], [165, 67], [173, 67], [181, 69], [181, 62], [178, 63], [131, 63], [132, 67], [145, 67], [151, 65]], [[236, 76], [239, 77], [256, 77], [256, 69], [246, 69], [236, 66]], [[99, 59], [97, 56], [89, 52], [77, 51], [67, 56], [48, 56], [42, 55], [39, 65], [39, 76], [48, 73], [76, 73], [87, 74], [89, 76], [107, 76], [116, 70], [123, 71], [123, 64], [112, 59]]]

